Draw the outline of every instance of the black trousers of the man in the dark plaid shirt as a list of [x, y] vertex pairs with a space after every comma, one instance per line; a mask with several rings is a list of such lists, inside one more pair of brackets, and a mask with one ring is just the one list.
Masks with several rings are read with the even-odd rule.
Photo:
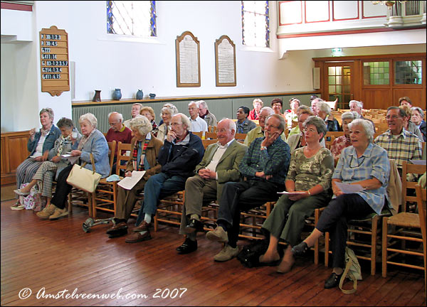
[[285, 187], [268, 181], [228, 182], [223, 187], [219, 201], [218, 224], [228, 226], [228, 244], [236, 247], [240, 227], [241, 211], [250, 210], [268, 201], [278, 200], [278, 192]]

